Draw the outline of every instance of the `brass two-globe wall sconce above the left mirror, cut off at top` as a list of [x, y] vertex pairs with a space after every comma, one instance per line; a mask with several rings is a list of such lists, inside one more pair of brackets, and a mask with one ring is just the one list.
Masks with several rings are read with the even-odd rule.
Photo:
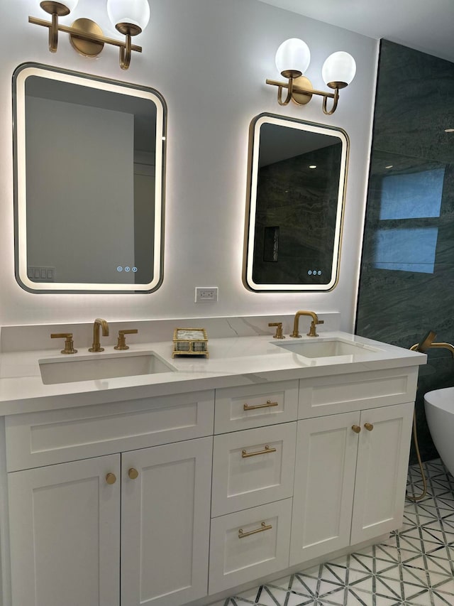
[[58, 32], [70, 34], [70, 43], [78, 53], [85, 57], [96, 57], [101, 53], [104, 44], [120, 47], [120, 67], [127, 70], [131, 63], [131, 51], [142, 52], [141, 46], [131, 44], [131, 36], [137, 36], [148, 24], [150, 6], [148, 0], [107, 0], [107, 14], [114, 27], [126, 36], [125, 40], [115, 40], [103, 36], [102, 30], [91, 19], [79, 18], [71, 27], [58, 23], [58, 18], [69, 15], [77, 6], [78, 0], [43, 0], [40, 7], [52, 15], [52, 21], [43, 21], [28, 17], [28, 23], [49, 28], [49, 50], [55, 53], [58, 44]]

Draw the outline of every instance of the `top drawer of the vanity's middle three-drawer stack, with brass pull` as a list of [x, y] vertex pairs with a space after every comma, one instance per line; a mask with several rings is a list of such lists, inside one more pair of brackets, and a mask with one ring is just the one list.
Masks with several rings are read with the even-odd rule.
[[295, 421], [298, 381], [216, 389], [214, 433]]

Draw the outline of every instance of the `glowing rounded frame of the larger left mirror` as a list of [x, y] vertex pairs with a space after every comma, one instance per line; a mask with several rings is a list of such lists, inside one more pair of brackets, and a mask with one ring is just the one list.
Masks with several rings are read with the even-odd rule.
[[[26, 80], [38, 76], [70, 82], [131, 97], [150, 99], [156, 106], [155, 224], [153, 279], [149, 283], [66, 283], [34, 282], [27, 275], [27, 195], [26, 195]], [[13, 166], [15, 274], [22, 288], [31, 293], [152, 293], [162, 284], [165, 227], [165, 158], [167, 105], [157, 90], [129, 82], [62, 70], [40, 63], [22, 63], [13, 72]], [[121, 158], [119, 142], [118, 158]]]

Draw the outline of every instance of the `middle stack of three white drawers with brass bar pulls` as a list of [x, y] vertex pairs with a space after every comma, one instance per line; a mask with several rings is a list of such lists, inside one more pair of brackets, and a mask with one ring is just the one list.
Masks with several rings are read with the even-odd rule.
[[210, 594], [289, 566], [297, 407], [298, 381], [216, 390]]

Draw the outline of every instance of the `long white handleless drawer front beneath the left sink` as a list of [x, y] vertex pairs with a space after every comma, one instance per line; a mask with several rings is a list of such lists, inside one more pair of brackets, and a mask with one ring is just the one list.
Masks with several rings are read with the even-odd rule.
[[214, 391], [6, 416], [8, 471], [213, 434]]

